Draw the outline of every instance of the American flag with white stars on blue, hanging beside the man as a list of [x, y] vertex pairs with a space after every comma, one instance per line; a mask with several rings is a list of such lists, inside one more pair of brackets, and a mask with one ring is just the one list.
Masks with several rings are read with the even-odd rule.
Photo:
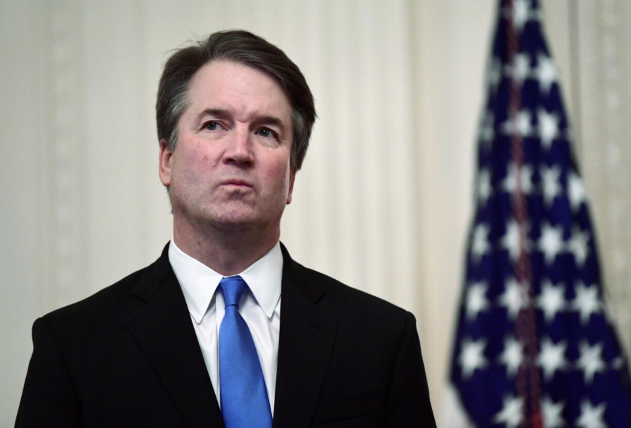
[[477, 427], [631, 426], [586, 192], [537, 0], [501, 0], [451, 382]]

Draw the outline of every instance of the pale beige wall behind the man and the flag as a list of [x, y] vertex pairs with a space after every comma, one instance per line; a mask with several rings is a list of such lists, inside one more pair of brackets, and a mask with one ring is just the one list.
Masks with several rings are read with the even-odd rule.
[[[544, 4], [615, 314], [628, 327], [631, 236], [621, 226], [631, 197], [617, 178], [631, 161], [631, 67], [616, 52], [631, 47], [622, 25], [631, 6]], [[15, 418], [33, 320], [151, 262], [170, 237], [156, 175], [160, 64], [169, 49], [223, 28], [280, 45], [314, 91], [319, 120], [281, 239], [300, 262], [416, 314], [438, 409], [494, 5], [0, 1], [0, 426]], [[610, 110], [596, 115], [600, 106]]]

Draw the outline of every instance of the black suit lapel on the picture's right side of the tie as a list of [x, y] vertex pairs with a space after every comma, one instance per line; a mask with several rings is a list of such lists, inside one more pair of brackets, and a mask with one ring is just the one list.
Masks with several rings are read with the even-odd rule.
[[307, 269], [283, 250], [274, 427], [306, 427], [314, 414], [338, 318]]

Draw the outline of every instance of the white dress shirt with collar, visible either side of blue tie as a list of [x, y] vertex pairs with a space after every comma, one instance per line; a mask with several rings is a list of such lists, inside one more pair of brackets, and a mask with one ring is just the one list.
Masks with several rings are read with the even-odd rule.
[[[221, 406], [218, 337], [225, 303], [221, 291], [218, 291], [218, 285], [223, 275], [182, 252], [173, 239], [168, 246], [168, 260], [182, 287], [206, 369], [217, 402]], [[283, 277], [283, 254], [280, 243], [277, 242], [266, 255], [239, 275], [249, 287], [249, 291], [246, 291], [241, 299], [239, 313], [250, 328], [256, 352], [259, 354], [273, 416], [280, 331], [280, 290]]]

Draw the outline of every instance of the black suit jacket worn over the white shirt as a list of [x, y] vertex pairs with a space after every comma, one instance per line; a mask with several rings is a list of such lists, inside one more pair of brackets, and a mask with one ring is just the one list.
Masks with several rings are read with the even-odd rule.
[[[35, 321], [17, 427], [223, 427], [167, 248]], [[413, 315], [282, 249], [274, 427], [434, 427]]]

